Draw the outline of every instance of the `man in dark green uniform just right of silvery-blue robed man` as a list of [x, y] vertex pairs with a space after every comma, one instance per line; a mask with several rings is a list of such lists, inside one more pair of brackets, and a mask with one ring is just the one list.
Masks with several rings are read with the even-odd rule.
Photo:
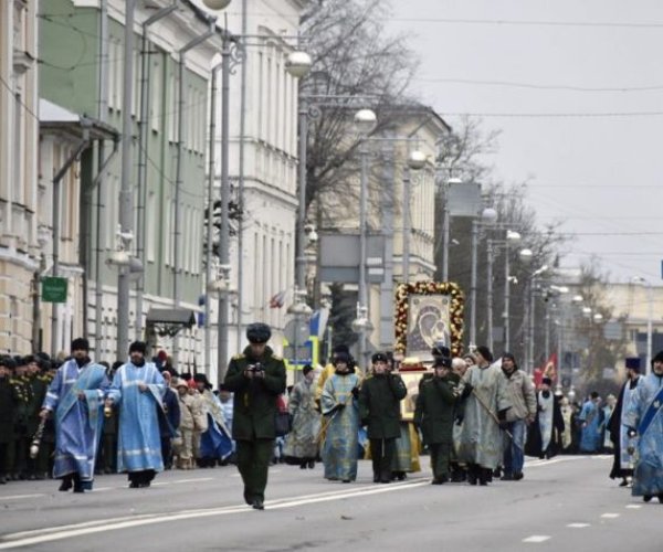
[[359, 391], [359, 413], [362, 425], [368, 425], [373, 482], [390, 482], [400, 436], [400, 402], [408, 390], [400, 375], [389, 373], [387, 354], [377, 352], [371, 361], [373, 374]]

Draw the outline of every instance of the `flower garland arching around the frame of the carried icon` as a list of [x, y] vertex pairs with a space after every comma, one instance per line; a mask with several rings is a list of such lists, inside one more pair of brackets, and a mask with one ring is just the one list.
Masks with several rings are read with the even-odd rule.
[[449, 295], [451, 305], [449, 318], [451, 323], [451, 354], [459, 357], [462, 353], [463, 339], [463, 291], [453, 282], [414, 282], [399, 284], [396, 288], [396, 352], [406, 353], [408, 344], [408, 298], [410, 295]]

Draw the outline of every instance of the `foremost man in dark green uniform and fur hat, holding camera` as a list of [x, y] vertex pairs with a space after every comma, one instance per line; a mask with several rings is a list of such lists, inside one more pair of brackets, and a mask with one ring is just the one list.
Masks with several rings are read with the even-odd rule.
[[272, 330], [255, 322], [246, 328], [249, 347], [233, 357], [224, 388], [234, 393], [232, 438], [236, 442], [238, 468], [244, 482], [244, 500], [264, 509], [272, 450], [276, 399], [285, 391], [285, 363], [267, 346]]

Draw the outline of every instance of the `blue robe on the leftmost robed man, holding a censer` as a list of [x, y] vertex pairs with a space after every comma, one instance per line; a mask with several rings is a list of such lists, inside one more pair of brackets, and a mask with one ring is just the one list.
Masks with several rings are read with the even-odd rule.
[[[72, 359], [57, 369], [43, 404], [55, 411], [53, 477], [77, 473], [83, 488], [92, 489], [107, 388], [108, 379], [99, 364], [88, 363], [78, 370]], [[85, 400], [78, 399], [81, 391]]]

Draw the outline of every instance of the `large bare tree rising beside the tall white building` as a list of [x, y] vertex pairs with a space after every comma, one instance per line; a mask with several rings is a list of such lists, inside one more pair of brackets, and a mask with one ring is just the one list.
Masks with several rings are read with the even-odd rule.
[[[352, 116], [376, 112], [375, 132], [393, 126], [412, 102], [406, 91], [418, 61], [402, 36], [385, 32], [385, 0], [319, 0], [302, 18], [313, 71], [302, 83], [312, 104], [306, 160], [306, 208], [334, 212], [358, 193], [359, 137]], [[396, 108], [398, 106], [398, 109]], [[319, 201], [324, 197], [325, 200]], [[324, 206], [323, 206], [324, 205]], [[333, 219], [316, 217], [325, 225]]]

